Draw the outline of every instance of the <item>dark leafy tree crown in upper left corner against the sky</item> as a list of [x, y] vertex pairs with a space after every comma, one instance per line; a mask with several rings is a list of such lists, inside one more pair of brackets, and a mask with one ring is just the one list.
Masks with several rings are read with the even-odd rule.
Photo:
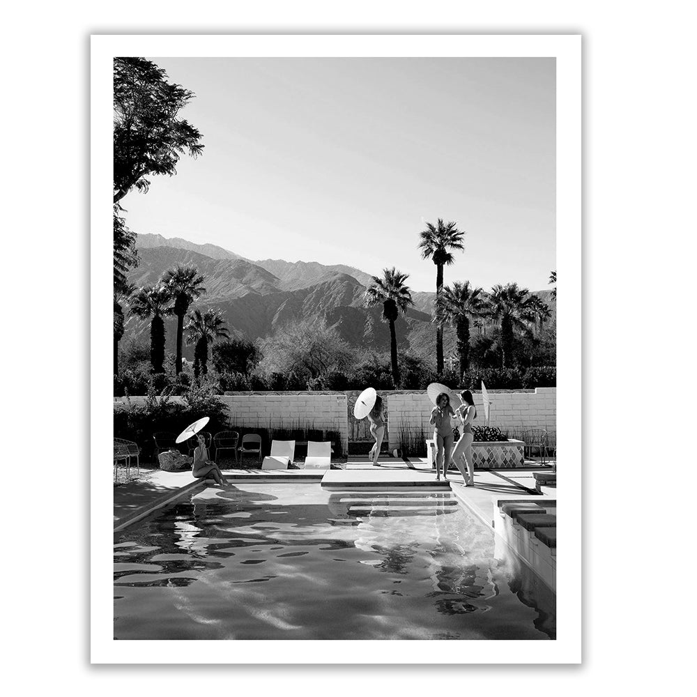
[[194, 97], [143, 58], [114, 59], [114, 203], [153, 174], [176, 174], [184, 153], [203, 151], [201, 134], [178, 113]]

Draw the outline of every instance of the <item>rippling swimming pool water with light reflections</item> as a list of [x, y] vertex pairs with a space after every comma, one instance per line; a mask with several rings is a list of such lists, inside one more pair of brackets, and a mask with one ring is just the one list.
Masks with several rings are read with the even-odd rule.
[[117, 639], [556, 636], [553, 593], [450, 491], [211, 488], [114, 542]]

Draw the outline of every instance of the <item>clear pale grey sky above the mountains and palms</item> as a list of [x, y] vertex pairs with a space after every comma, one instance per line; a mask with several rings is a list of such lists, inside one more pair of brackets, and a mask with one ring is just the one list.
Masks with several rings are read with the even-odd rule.
[[445, 283], [547, 287], [556, 268], [554, 59], [150, 58], [203, 135], [121, 204], [138, 233], [247, 259], [396, 266], [433, 291], [419, 232], [464, 231]]

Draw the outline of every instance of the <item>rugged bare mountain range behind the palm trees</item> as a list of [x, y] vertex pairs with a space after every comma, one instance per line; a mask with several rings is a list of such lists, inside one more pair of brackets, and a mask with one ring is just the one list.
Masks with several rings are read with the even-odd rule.
[[[206, 287], [196, 306], [219, 310], [233, 336], [254, 340], [273, 334], [289, 322], [323, 317], [349, 344], [379, 353], [389, 351], [390, 331], [381, 321], [382, 309], [364, 307], [365, 290], [372, 276], [359, 269], [316, 261], [251, 261], [216, 245], [152, 234], [138, 235], [136, 246], [140, 262], [130, 271], [128, 280], [132, 284], [156, 284], [167, 269], [192, 264], [204, 277]], [[551, 291], [537, 294], [555, 312]], [[413, 293], [414, 307], [396, 323], [400, 351], [411, 350], [429, 362], [434, 362], [435, 351], [431, 324], [435, 295]], [[168, 319], [166, 326], [167, 351], [173, 353], [176, 320]], [[126, 337], [141, 340], [148, 336], [149, 323], [130, 316], [125, 329]], [[454, 343], [454, 332], [446, 328], [445, 355], [454, 351]], [[184, 353], [192, 358], [191, 347], [185, 346]]]

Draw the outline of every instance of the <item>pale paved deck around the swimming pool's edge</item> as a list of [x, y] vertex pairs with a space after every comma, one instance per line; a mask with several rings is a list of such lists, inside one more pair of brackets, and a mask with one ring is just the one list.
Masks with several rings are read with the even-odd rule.
[[[549, 471], [530, 463], [530, 468], [475, 470], [475, 486], [465, 487], [459, 472], [450, 470], [447, 481], [436, 481], [435, 471], [425, 458], [408, 460], [381, 457], [379, 466], [365, 456], [351, 456], [341, 469], [332, 470], [223, 470], [231, 482], [321, 482], [328, 489], [344, 487], [450, 487], [455, 495], [488, 525], [491, 525], [492, 496], [523, 496], [535, 491], [533, 473]], [[187, 491], [213, 484], [208, 480], [197, 480], [190, 471], [164, 472], [163, 470], [141, 470], [141, 477], [114, 487], [114, 529], [120, 530], [130, 522], [140, 519], [155, 508]]]

